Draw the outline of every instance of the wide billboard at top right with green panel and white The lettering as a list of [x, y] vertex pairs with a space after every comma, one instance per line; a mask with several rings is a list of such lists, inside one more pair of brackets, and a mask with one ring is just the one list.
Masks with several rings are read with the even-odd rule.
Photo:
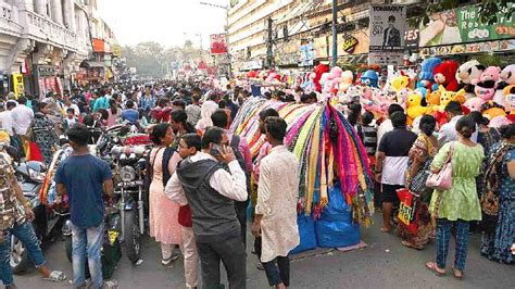
[[[515, 8], [515, 3], [511, 3]], [[479, 8], [476, 5], [459, 8], [429, 16], [427, 25], [420, 25], [420, 47], [470, 43], [486, 40], [515, 38], [513, 17], [498, 13], [493, 25], [479, 22]]]

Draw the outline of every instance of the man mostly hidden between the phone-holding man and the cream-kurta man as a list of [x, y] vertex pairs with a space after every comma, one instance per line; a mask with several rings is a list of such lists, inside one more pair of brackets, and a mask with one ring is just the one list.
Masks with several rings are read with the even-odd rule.
[[[249, 144], [244, 138], [240, 138], [233, 134], [233, 131], [227, 129], [228, 125], [228, 117], [225, 110], [217, 110], [211, 115], [211, 121], [213, 125], [219, 128], [225, 129], [227, 134], [227, 138], [229, 139], [229, 146], [233, 148], [235, 152], [236, 160], [238, 161], [241, 169], [244, 172], [247, 177], [247, 191], [249, 192], [250, 197], [250, 176], [252, 173], [252, 156], [250, 154]], [[240, 222], [241, 226], [241, 239], [243, 240], [243, 244], [247, 243], [247, 206], [249, 205], [248, 198], [243, 202], [235, 202], [235, 210], [236, 216]]]

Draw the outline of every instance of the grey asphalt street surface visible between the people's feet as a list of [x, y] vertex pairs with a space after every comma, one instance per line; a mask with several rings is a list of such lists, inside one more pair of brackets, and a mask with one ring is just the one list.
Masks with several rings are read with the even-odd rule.
[[[379, 231], [378, 214], [375, 221], [375, 225], [362, 229], [362, 239], [367, 244], [364, 249], [350, 252], [317, 250], [293, 261], [291, 288], [514, 288], [515, 266], [481, 257], [478, 235], [470, 237], [465, 276], [457, 280], [450, 271], [454, 256], [452, 241], [448, 274], [437, 277], [424, 266], [434, 257], [434, 244], [424, 251], [404, 248], [393, 234]], [[72, 276], [63, 241], [46, 244], [43, 252], [51, 268], [64, 271], [68, 278]], [[185, 288], [181, 257], [172, 267], [162, 266], [160, 247], [146, 239], [142, 259], [141, 265], [133, 266], [125, 255], [122, 257], [114, 275], [118, 288]], [[256, 269], [256, 262], [249, 248], [247, 288], [269, 288], [264, 272]], [[71, 288], [68, 281], [43, 281], [35, 271], [15, 276], [15, 282], [18, 288]]]

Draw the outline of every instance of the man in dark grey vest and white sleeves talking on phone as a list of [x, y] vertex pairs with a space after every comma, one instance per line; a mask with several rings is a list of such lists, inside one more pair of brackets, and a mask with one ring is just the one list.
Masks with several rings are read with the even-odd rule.
[[178, 164], [165, 193], [179, 205], [191, 208], [202, 287], [221, 286], [222, 261], [229, 288], [244, 288], [246, 252], [234, 201], [247, 200], [247, 180], [224, 129], [205, 130], [202, 151]]

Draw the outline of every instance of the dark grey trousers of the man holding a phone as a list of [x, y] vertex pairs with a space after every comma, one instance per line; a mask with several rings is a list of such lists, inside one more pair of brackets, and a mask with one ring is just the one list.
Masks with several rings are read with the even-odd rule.
[[194, 236], [199, 252], [202, 288], [224, 288], [219, 284], [219, 262], [224, 263], [230, 289], [246, 288], [246, 252], [240, 229], [224, 235]]

